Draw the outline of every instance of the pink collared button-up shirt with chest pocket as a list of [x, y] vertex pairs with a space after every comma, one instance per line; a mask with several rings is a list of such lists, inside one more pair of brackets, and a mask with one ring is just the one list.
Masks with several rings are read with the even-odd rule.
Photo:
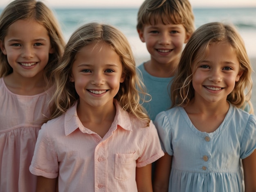
[[79, 120], [77, 103], [48, 121], [39, 131], [32, 174], [58, 177], [60, 192], [137, 192], [136, 167], [144, 167], [164, 155], [157, 130], [141, 121], [115, 100], [116, 116], [101, 138]]

